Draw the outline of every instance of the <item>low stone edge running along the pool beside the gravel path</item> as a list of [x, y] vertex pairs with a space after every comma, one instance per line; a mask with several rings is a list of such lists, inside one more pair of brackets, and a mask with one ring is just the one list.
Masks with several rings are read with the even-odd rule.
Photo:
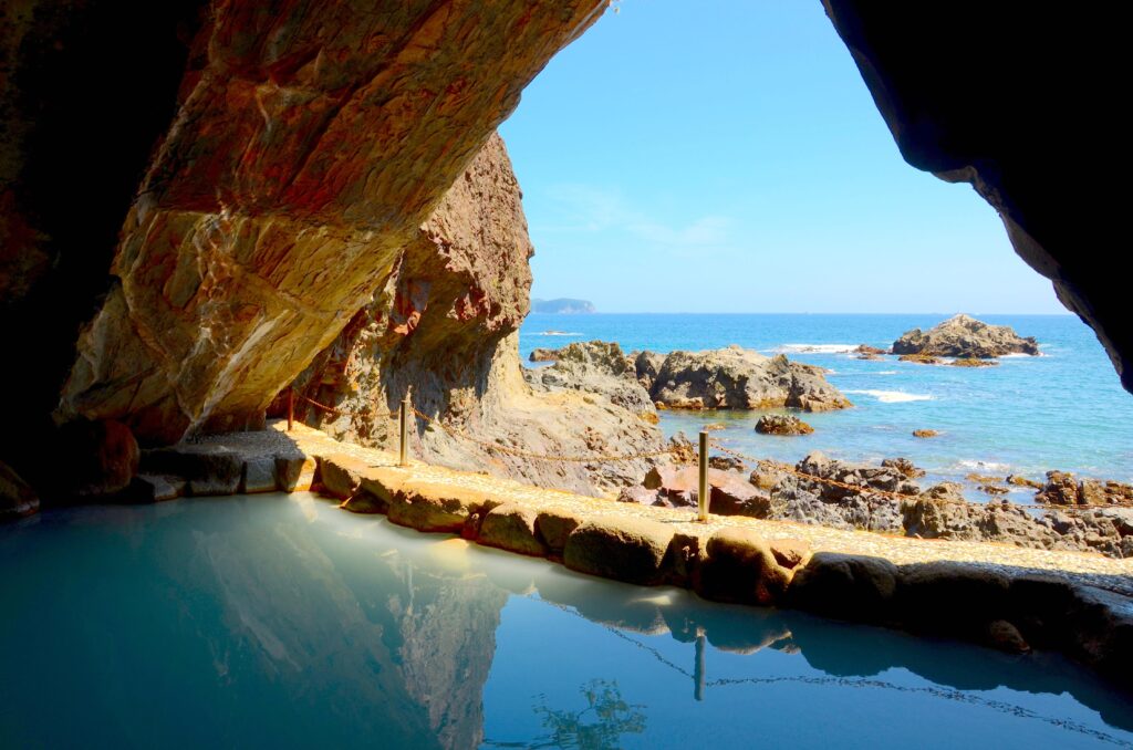
[[811, 553], [804, 540], [768, 539], [752, 528], [697, 529], [679, 511], [665, 522], [617, 512], [611, 501], [595, 501], [606, 504], [588, 510], [577, 496], [554, 491], [529, 488], [512, 497], [508, 489], [516, 483], [418, 462], [397, 467], [390, 454], [299, 425], [292, 433], [273, 425], [147, 451], [142, 468], [135, 501], [310, 489], [356, 513], [384, 514], [398, 526], [545, 557], [600, 578], [671, 585], [713, 602], [795, 608], [1007, 651], [1060, 651], [1133, 689], [1133, 598], [1066, 577]]

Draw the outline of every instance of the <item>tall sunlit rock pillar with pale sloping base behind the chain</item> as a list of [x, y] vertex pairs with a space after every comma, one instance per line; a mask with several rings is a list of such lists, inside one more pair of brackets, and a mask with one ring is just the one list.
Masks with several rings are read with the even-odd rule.
[[[653, 403], [616, 344], [568, 347], [561, 363], [527, 373], [525, 382], [518, 330], [533, 254], [519, 184], [503, 140], [493, 136], [398, 254], [369, 304], [296, 380], [297, 415], [340, 440], [392, 450], [391, 414], [408, 390], [414, 407], [434, 420], [416, 421], [418, 458], [588, 494], [640, 480], [651, 466], [646, 459], [560, 462], [506, 452], [663, 448]], [[282, 408], [278, 400], [273, 412]]]

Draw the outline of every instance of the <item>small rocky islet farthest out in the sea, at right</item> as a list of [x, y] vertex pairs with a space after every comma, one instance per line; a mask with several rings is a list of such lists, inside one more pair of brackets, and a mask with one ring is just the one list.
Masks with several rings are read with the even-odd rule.
[[988, 325], [968, 315], [956, 315], [922, 332], [906, 331], [893, 342], [893, 353], [918, 357], [993, 359], [1004, 355], [1038, 356], [1033, 338], [1022, 338], [1007, 325]]

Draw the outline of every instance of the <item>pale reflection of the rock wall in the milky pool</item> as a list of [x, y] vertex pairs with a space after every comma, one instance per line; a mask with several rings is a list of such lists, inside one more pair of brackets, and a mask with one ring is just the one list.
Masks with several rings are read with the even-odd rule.
[[288, 701], [309, 691], [343, 727], [390, 747], [426, 738], [478, 747], [506, 593], [399, 556], [359, 568], [357, 549], [340, 553], [340, 544], [325, 527], [297, 522], [198, 532], [193, 559], [204, 569], [190, 573], [215, 580], [224, 622], [257, 663], [252, 672], [276, 675]]

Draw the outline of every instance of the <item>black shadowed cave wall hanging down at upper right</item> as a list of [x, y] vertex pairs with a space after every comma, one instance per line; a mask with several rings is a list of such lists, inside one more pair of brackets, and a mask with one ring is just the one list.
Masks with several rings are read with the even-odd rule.
[[905, 161], [966, 181], [1015, 252], [1094, 330], [1133, 391], [1126, 281], [1114, 273], [1127, 84], [1117, 8], [824, 0]]

